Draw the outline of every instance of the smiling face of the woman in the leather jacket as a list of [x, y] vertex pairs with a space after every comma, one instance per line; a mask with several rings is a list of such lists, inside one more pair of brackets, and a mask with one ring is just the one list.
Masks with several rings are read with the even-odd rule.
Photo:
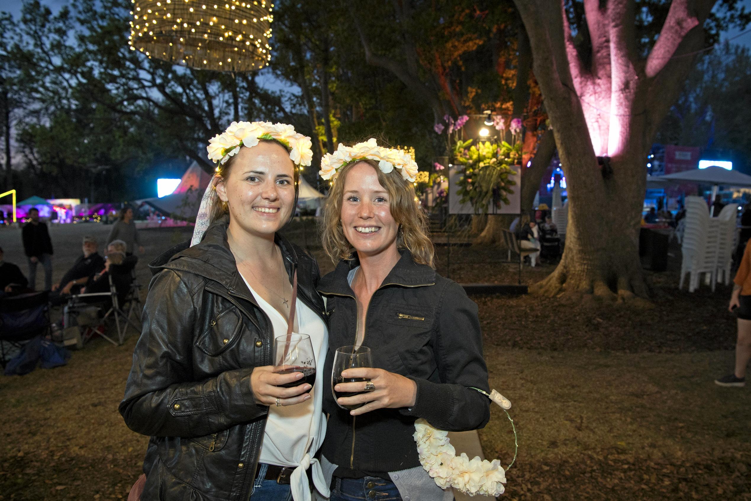
[[216, 192], [227, 202], [230, 219], [251, 234], [274, 234], [294, 207], [294, 164], [286, 149], [261, 141], [242, 147]]

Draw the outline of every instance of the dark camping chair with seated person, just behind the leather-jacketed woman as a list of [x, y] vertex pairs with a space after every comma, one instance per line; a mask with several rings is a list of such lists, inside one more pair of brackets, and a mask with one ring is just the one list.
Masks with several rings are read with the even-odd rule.
[[[140, 332], [140, 326], [132, 321], [121, 307], [122, 304], [125, 304], [128, 294], [131, 292], [131, 270], [132, 267], [128, 264], [110, 265], [110, 273], [108, 273], [108, 279], [110, 281], [109, 292], [74, 294], [71, 296], [68, 306], [66, 306], [68, 315], [82, 314], [91, 309], [98, 309], [98, 312], [106, 311], [101, 320], [106, 321], [107, 318], [114, 318], [117, 340], [113, 340], [112, 337], [107, 336], [104, 333], [98, 331], [97, 333], [115, 346], [120, 346], [122, 343], [125, 343], [125, 333], [127, 332], [129, 325], [134, 327], [137, 332]], [[66, 327], [68, 327], [67, 324]], [[94, 332], [89, 330], [89, 333], [84, 336], [83, 341], [91, 339], [93, 334]]]

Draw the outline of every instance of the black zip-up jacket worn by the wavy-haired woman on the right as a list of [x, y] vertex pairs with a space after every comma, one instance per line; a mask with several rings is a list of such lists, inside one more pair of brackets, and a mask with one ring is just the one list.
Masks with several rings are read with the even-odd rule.
[[[475, 430], [490, 418], [490, 400], [469, 389], [490, 392], [477, 305], [456, 282], [416, 264], [409, 251], [400, 252], [368, 305], [363, 346], [372, 351], [373, 367], [417, 383], [415, 405], [353, 418], [336, 405], [330, 390], [324, 391], [324, 412], [330, 416], [321, 451], [330, 462], [359, 472], [420, 466], [412, 438], [418, 418], [448, 431]], [[329, 315], [327, 375], [336, 349], [355, 342], [360, 319], [347, 275], [357, 264], [341, 261], [318, 283]]]

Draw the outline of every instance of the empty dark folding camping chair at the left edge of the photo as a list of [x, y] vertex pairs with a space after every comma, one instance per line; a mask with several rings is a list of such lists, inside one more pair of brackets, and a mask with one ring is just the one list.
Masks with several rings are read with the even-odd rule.
[[19, 294], [0, 300], [0, 364], [5, 367], [6, 343], [22, 343], [50, 332], [48, 291]]

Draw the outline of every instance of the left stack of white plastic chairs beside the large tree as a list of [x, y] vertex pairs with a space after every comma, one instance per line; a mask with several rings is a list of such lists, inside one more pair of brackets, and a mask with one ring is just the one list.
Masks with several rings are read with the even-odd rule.
[[709, 209], [700, 197], [686, 197], [686, 229], [683, 231], [680, 283], [689, 275], [689, 292], [698, 288], [701, 273], [709, 273], [712, 289], [717, 270], [717, 239], [719, 226], [710, 224]]

